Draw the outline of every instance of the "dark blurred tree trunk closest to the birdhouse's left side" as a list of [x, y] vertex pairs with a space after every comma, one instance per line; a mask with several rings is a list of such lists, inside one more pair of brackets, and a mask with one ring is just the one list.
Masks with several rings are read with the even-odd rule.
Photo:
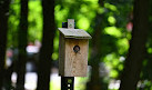
[[53, 39], [55, 32], [54, 0], [42, 0], [43, 9], [43, 37], [38, 63], [37, 90], [49, 90], [51, 73], [51, 54], [53, 52]]

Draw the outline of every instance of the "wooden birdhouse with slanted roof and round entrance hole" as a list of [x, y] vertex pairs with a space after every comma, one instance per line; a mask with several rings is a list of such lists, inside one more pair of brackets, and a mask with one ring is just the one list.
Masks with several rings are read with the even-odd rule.
[[71, 19], [68, 20], [68, 28], [59, 28], [59, 74], [85, 77], [91, 36], [82, 29], [74, 29], [74, 21]]

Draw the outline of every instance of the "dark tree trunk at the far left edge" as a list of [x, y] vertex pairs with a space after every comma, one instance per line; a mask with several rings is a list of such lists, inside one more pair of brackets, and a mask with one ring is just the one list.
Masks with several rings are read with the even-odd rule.
[[10, 0], [0, 1], [0, 90], [3, 84], [9, 4], [10, 4]]

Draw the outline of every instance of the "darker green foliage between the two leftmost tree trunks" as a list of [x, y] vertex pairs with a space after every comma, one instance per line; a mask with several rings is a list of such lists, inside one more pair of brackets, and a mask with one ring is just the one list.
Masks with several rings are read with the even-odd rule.
[[19, 27], [19, 20], [20, 20], [20, 4], [18, 4], [20, 1], [16, 0], [12, 1], [10, 4], [9, 10], [9, 31], [8, 31], [8, 47], [17, 47], [17, 39], [18, 39], [18, 27]]

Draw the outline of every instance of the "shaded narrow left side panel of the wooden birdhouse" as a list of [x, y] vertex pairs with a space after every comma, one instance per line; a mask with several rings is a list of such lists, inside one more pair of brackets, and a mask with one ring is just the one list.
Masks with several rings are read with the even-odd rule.
[[62, 33], [59, 39], [59, 76], [64, 76], [65, 41]]

